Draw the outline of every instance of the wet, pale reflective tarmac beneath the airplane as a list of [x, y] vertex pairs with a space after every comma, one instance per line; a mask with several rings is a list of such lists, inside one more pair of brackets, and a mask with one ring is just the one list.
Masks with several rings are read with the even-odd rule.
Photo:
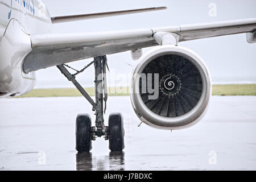
[[256, 97], [213, 96], [204, 119], [184, 130], [142, 124], [129, 97], [109, 97], [125, 122], [125, 150], [97, 138], [89, 154], [75, 150], [75, 118], [94, 115], [82, 97], [0, 100], [0, 170], [255, 170]]

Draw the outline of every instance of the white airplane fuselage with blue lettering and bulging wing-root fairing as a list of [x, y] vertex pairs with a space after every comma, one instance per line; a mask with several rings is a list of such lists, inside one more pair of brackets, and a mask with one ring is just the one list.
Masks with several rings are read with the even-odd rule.
[[31, 34], [49, 34], [51, 17], [41, 0], [0, 0], [0, 97], [19, 96], [35, 85], [35, 73], [24, 73], [32, 50]]

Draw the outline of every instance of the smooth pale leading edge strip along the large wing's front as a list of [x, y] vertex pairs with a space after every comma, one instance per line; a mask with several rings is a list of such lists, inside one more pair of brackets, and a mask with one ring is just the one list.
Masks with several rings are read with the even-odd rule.
[[152, 37], [156, 32], [170, 32], [179, 35], [177, 42], [210, 38], [213, 36], [254, 32], [256, 18], [229, 20], [222, 22], [185, 24], [171, 27], [141, 28], [132, 30], [82, 32], [73, 34], [31, 35], [32, 48], [60, 46], [90, 42], [106, 42], [110, 40]]

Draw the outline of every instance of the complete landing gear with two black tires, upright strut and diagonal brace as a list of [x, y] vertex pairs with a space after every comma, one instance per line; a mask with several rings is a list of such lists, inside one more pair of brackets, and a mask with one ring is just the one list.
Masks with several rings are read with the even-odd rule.
[[[83, 72], [90, 65], [94, 64], [95, 70], [95, 102], [89, 96], [89, 94], [82, 88], [79, 82], [76, 81], [76, 75]], [[95, 111], [96, 121], [95, 126], [92, 126], [92, 122], [89, 114], [79, 114], [76, 118], [76, 150], [78, 152], [89, 152], [92, 150], [92, 140], [96, 140], [97, 137], [104, 136], [105, 140], [109, 140], [109, 149], [111, 151], [122, 151], [125, 148], [123, 129], [123, 117], [121, 113], [113, 113], [109, 116], [109, 126], [104, 125], [104, 114], [106, 111], [106, 101], [108, 100], [107, 85], [106, 85], [106, 68], [107, 59], [106, 56], [94, 57], [94, 60], [86, 65], [81, 71], [76, 71], [75, 74], [71, 74], [68, 69], [71, 68], [68, 65], [57, 65], [61, 73], [67, 77], [69, 81], [76, 86], [79, 92], [89, 101], [92, 105], [92, 110]], [[71, 68], [73, 69], [73, 68]], [[105, 102], [105, 106], [104, 106]]]

